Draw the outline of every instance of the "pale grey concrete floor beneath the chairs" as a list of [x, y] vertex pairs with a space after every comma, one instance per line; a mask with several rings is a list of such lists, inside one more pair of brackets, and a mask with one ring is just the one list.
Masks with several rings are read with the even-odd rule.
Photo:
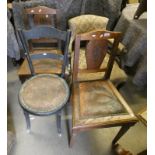
[[[64, 110], [62, 116], [62, 137], [56, 129], [55, 115], [31, 117], [31, 133], [26, 131], [25, 118], [18, 104], [20, 81], [17, 76], [18, 67], [14, 67], [8, 59], [8, 130], [15, 133], [15, 144], [11, 155], [113, 155], [111, 141], [119, 130], [117, 128], [96, 129], [80, 133], [76, 137], [73, 148], [68, 147], [66, 120], [71, 121], [71, 106], [67, 106], [69, 115]], [[138, 112], [146, 106], [146, 90], [138, 90], [129, 80], [121, 89], [121, 93], [131, 108]], [[146, 149], [146, 127], [137, 123], [121, 138], [119, 143], [133, 155]]]

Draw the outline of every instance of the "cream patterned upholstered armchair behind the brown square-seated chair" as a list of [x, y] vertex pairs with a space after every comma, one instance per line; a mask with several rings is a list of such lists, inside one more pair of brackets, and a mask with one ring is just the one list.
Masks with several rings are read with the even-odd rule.
[[[71, 70], [73, 68], [73, 59], [74, 59], [74, 50], [73, 50], [73, 45], [74, 45], [74, 40], [75, 36], [77, 34], [82, 34], [86, 32], [90, 32], [93, 30], [97, 29], [106, 29], [106, 26], [108, 24], [109, 19], [106, 17], [102, 16], [96, 16], [96, 15], [81, 15], [77, 16], [74, 18], [71, 18], [69, 20], [69, 28], [72, 32], [71, 39], [70, 39], [70, 44], [69, 44], [69, 55], [71, 55]], [[109, 44], [113, 44], [113, 40], [109, 40]], [[81, 51], [84, 51], [84, 48], [80, 49]], [[119, 43], [118, 50], [117, 50], [117, 55], [123, 54], [125, 51], [125, 47], [123, 44]], [[106, 55], [106, 60], [108, 60], [109, 55]], [[80, 66], [83, 67], [85, 66], [85, 55], [84, 52], [80, 52]], [[87, 75], [91, 76], [91, 75]], [[127, 76], [124, 73], [123, 70], [120, 69], [118, 64], [115, 62], [114, 63], [114, 68], [113, 68], [113, 73], [111, 75], [111, 80], [115, 83], [115, 85], [120, 85], [120, 82], [125, 81]]]

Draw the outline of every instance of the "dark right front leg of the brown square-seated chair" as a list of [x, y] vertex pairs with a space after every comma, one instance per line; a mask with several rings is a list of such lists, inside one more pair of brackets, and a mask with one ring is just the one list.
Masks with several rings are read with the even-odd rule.
[[[135, 123], [134, 123], [135, 124]], [[112, 141], [112, 145], [116, 144], [116, 142], [129, 130], [129, 128], [131, 126], [133, 126], [134, 124], [130, 124], [130, 125], [123, 125], [121, 127], [121, 129], [119, 130], [119, 132], [117, 133], [117, 135], [115, 136], [115, 138]]]

